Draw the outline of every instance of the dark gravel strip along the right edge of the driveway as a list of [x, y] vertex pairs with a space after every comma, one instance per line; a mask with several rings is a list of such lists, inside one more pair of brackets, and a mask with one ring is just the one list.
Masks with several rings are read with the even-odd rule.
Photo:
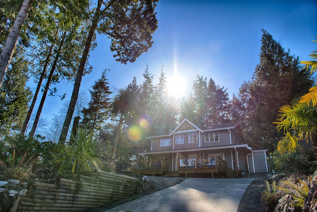
[[261, 192], [265, 190], [265, 176], [267, 173], [246, 173], [241, 178], [256, 178], [244, 192], [237, 212], [261, 211], [264, 212], [266, 207], [261, 201]]

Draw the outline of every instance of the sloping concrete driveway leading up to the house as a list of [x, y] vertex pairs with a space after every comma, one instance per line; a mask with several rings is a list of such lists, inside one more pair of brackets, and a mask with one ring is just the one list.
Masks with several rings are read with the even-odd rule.
[[188, 178], [178, 185], [127, 202], [107, 212], [237, 211], [254, 179]]

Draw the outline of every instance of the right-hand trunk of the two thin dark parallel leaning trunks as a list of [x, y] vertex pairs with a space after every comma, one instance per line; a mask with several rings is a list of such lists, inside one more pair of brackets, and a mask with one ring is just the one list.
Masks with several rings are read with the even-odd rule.
[[35, 130], [36, 130], [36, 127], [37, 127], [37, 124], [38, 124], [38, 121], [40, 119], [40, 115], [41, 115], [41, 112], [42, 112], [42, 109], [43, 109], [44, 101], [46, 99], [47, 92], [49, 91], [49, 85], [51, 84], [51, 80], [52, 80], [52, 77], [53, 77], [53, 74], [54, 74], [54, 71], [55, 71], [55, 67], [56, 67], [59, 55], [61, 53], [61, 48], [62, 48], [62, 46], [64, 44], [64, 41], [65, 41], [66, 32], [67, 31], [65, 30], [64, 34], [62, 35], [61, 43], [60, 43], [60, 45], [58, 47], [58, 50], [56, 52], [55, 59], [54, 59], [51, 71], [49, 72], [49, 77], [47, 78], [47, 82], [46, 82], [46, 85], [45, 85], [45, 88], [44, 88], [44, 91], [43, 91], [43, 95], [42, 95], [42, 98], [41, 98], [41, 101], [40, 101], [40, 105], [39, 105], [39, 107], [37, 109], [36, 116], [35, 116], [35, 119], [34, 119], [34, 122], [33, 122], [33, 125], [32, 125], [32, 129], [31, 129], [31, 131], [29, 133], [29, 138], [33, 138], [33, 136], [35, 134]]

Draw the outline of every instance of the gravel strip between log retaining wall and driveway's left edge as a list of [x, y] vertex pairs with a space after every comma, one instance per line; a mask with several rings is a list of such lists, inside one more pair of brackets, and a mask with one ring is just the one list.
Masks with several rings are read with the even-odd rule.
[[171, 187], [173, 185], [177, 185], [181, 182], [183, 182], [186, 178], [184, 177], [156, 177], [156, 176], [148, 176], [149, 178], [149, 186], [150, 188], [146, 190], [146, 192], [135, 194], [132, 196], [128, 196], [126, 198], [114, 201], [114, 202], [109, 202], [105, 205], [102, 205], [98, 208], [92, 208], [86, 210], [86, 212], [103, 212], [106, 210], [113, 209], [119, 205], [122, 205], [126, 202], [130, 202], [132, 200], [138, 199], [142, 196], [146, 196], [148, 194], [154, 193], [156, 191], [166, 189], [168, 187]]

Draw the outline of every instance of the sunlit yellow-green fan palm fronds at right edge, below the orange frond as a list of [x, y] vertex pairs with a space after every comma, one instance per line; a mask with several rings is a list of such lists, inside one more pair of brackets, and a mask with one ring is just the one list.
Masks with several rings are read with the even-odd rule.
[[282, 106], [282, 114], [274, 124], [277, 129], [284, 130], [284, 137], [279, 141], [277, 150], [280, 153], [295, 152], [301, 149], [300, 142], [313, 140], [317, 133], [317, 108], [313, 104], [300, 103], [298, 99], [291, 105]]

